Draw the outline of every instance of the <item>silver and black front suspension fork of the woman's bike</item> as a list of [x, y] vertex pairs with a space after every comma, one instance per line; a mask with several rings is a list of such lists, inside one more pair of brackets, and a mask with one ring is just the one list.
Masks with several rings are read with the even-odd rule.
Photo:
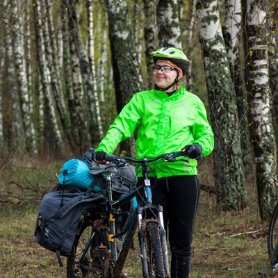
[[[154, 210], [156, 211], [158, 215], [158, 219], [152, 218], [151, 220], [143, 220], [142, 219], [142, 213], [143, 211], [147, 210]], [[147, 204], [146, 206], [138, 207], [137, 208], [137, 218], [138, 218], [138, 239], [140, 244], [140, 250], [141, 250], [141, 261], [142, 261], [142, 272], [144, 278], [149, 278], [149, 269], [148, 269], [148, 256], [147, 256], [147, 250], [145, 245], [145, 229], [147, 227], [147, 222], [157, 222], [158, 227], [160, 227], [160, 235], [161, 235], [161, 248], [163, 252], [163, 263], [164, 263], [164, 269], [165, 269], [165, 277], [170, 277], [170, 270], [169, 270], [169, 259], [168, 259], [168, 251], [167, 251], [167, 240], [166, 240], [166, 231], [164, 229], [164, 223], [163, 223], [163, 208], [161, 205], [154, 206], [152, 204]]]

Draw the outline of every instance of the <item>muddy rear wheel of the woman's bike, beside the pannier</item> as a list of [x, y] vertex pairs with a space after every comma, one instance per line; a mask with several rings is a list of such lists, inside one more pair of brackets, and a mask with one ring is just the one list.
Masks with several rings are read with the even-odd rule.
[[[83, 219], [81, 232], [74, 243], [74, 252], [67, 257], [67, 278], [113, 277], [108, 230], [99, 221], [89, 217]], [[92, 241], [86, 246], [90, 238]], [[85, 254], [84, 250], [87, 250]]]

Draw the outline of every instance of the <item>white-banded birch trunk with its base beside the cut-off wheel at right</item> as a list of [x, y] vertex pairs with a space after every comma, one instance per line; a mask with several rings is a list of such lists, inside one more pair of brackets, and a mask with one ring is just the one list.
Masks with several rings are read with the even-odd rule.
[[270, 113], [268, 82], [268, 24], [266, 2], [247, 1], [248, 104], [256, 161], [256, 186], [262, 219], [268, 219], [277, 202], [277, 146]]

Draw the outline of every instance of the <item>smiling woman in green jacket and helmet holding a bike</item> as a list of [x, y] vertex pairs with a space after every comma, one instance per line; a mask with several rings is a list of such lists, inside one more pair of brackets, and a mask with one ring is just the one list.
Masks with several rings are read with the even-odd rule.
[[[193, 225], [199, 200], [197, 160], [213, 150], [213, 132], [202, 101], [180, 84], [189, 60], [183, 51], [163, 47], [153, 53], [154, 89], [138, 92], [111, 124], [93, 154], [108, 163], [118, 143], [138, 129], [136, 157], [152, 158], [182, 150], [189, 163], [158, 163], [154, 204], [163, 206], [172, 252], [171, 277], [189, 277]], [[152, 175], [154, 173], [150, 173]]]

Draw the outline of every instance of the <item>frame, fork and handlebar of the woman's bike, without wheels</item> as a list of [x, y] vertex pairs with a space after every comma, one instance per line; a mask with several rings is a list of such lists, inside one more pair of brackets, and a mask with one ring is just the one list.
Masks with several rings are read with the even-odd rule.
[[[174, 155], [175, 155], [174, 158], [170, 156], [169, 158], [167, 158], [167, 161], [176, 161], [175, 160], [176, 156], [182, 155], [182, 153], [178, 152], [178, 153], [174, 153]], [[112, 172], [115, 172], [116, 170], [113, 167], [111, 168], [108, 167], [102, 173], [104, 175], [104, 178], [106, 179], [106, 190], [107, 190], [106, 221], [109, 227], [108, 241], [110, 243], [111, 257], [115, 262], [115, 265], [113, 266], [113, 277], [120, 278], [122, 275], [122, 269], [124, 268], [124, 263], [126, 261], [126, 257], [131, 247], [131, 243], [133, 241], [137, 227], [139, 229], [138, 239], [140, 243], [143, 277], [149, 277], [149, 270], [147, 264], [148, 257], [147, 257], [147, 250], [145, 249], [145, 231], [144, 231], [144, 228], [147, 226], [148, 222], [156, 222], [158, 224], [158, 227], [160, 227], [160, 237], [161, 237], [160, 240], [161, 240], [161, 247], [163, 250], [163, 263], [165, 268], [165, 277], [170, 277], [166, 231], [163, 223], [163, 208], [161, 205], [152, 204], [152, 188], [151, 188], [151, 182], [148, 177], [148, 173], [149, 173], [148, 163], [151, 161], [156, 161], [158, 160], [158, 158], [163, 158], [163, 157], [164, 158], [166, 157], [165, 154], [161, 156], [157, 156], [156, 158], [151, 158], [151, 159], [145, 158], [145, 161], [143, 162], [141, 160], [140, 164], [142, 165], [143, 183], [140, 184], [136, 189], [131, 191], [131, 193], [124, 195], [123, 197], [120, 197], [120, 199], [117, 199], [116, 201], [113, 201], [112, 181], [111, 181]], [[115, 158], [115, 156], [111, 157], [111, 161], [115, 161], [115, 159], [118, 159], [119, 161], [124, 160], [124, 161], [138, 163], [138, 160], [133, 158]], [[181, 161], [186, 161], [186, 160], [181, 159]], [[144, 199], [142, 199], [140, 193], [143, 194], [145, 193]], [[116, 234], [115, 220], [117, 219], [118, 209], [126, 202], [131, 201], [133, 197], [138, 197], [138, 196], [141, 197], [141, 200], [138, 204], [138, 207], [136, 208], [133, 218], [131, 218], [131, 220], [129, 221], [129, 227], [125, 233], [120, 254], [117, 254], [117, 245], [116, 245], [115, 238], [117, 238], [117, 236], [119, 235]], [[152, 218], [149, 218], [149, 215], [148, 218], [145, 218], [148, 211], [151, 211], [153, 215]], [[92, 234], [92, 236], [90, 237], [89, 242], [87, 243], [85, 249], [83, 250], [83, 254], [81, 258], [85, 257], [85, 254], [88, 252], [93, 236], [94, 234]], [[83, 268], [83, 270], [91, 271], [85, 265], [79, 265], [79, 266]]]

